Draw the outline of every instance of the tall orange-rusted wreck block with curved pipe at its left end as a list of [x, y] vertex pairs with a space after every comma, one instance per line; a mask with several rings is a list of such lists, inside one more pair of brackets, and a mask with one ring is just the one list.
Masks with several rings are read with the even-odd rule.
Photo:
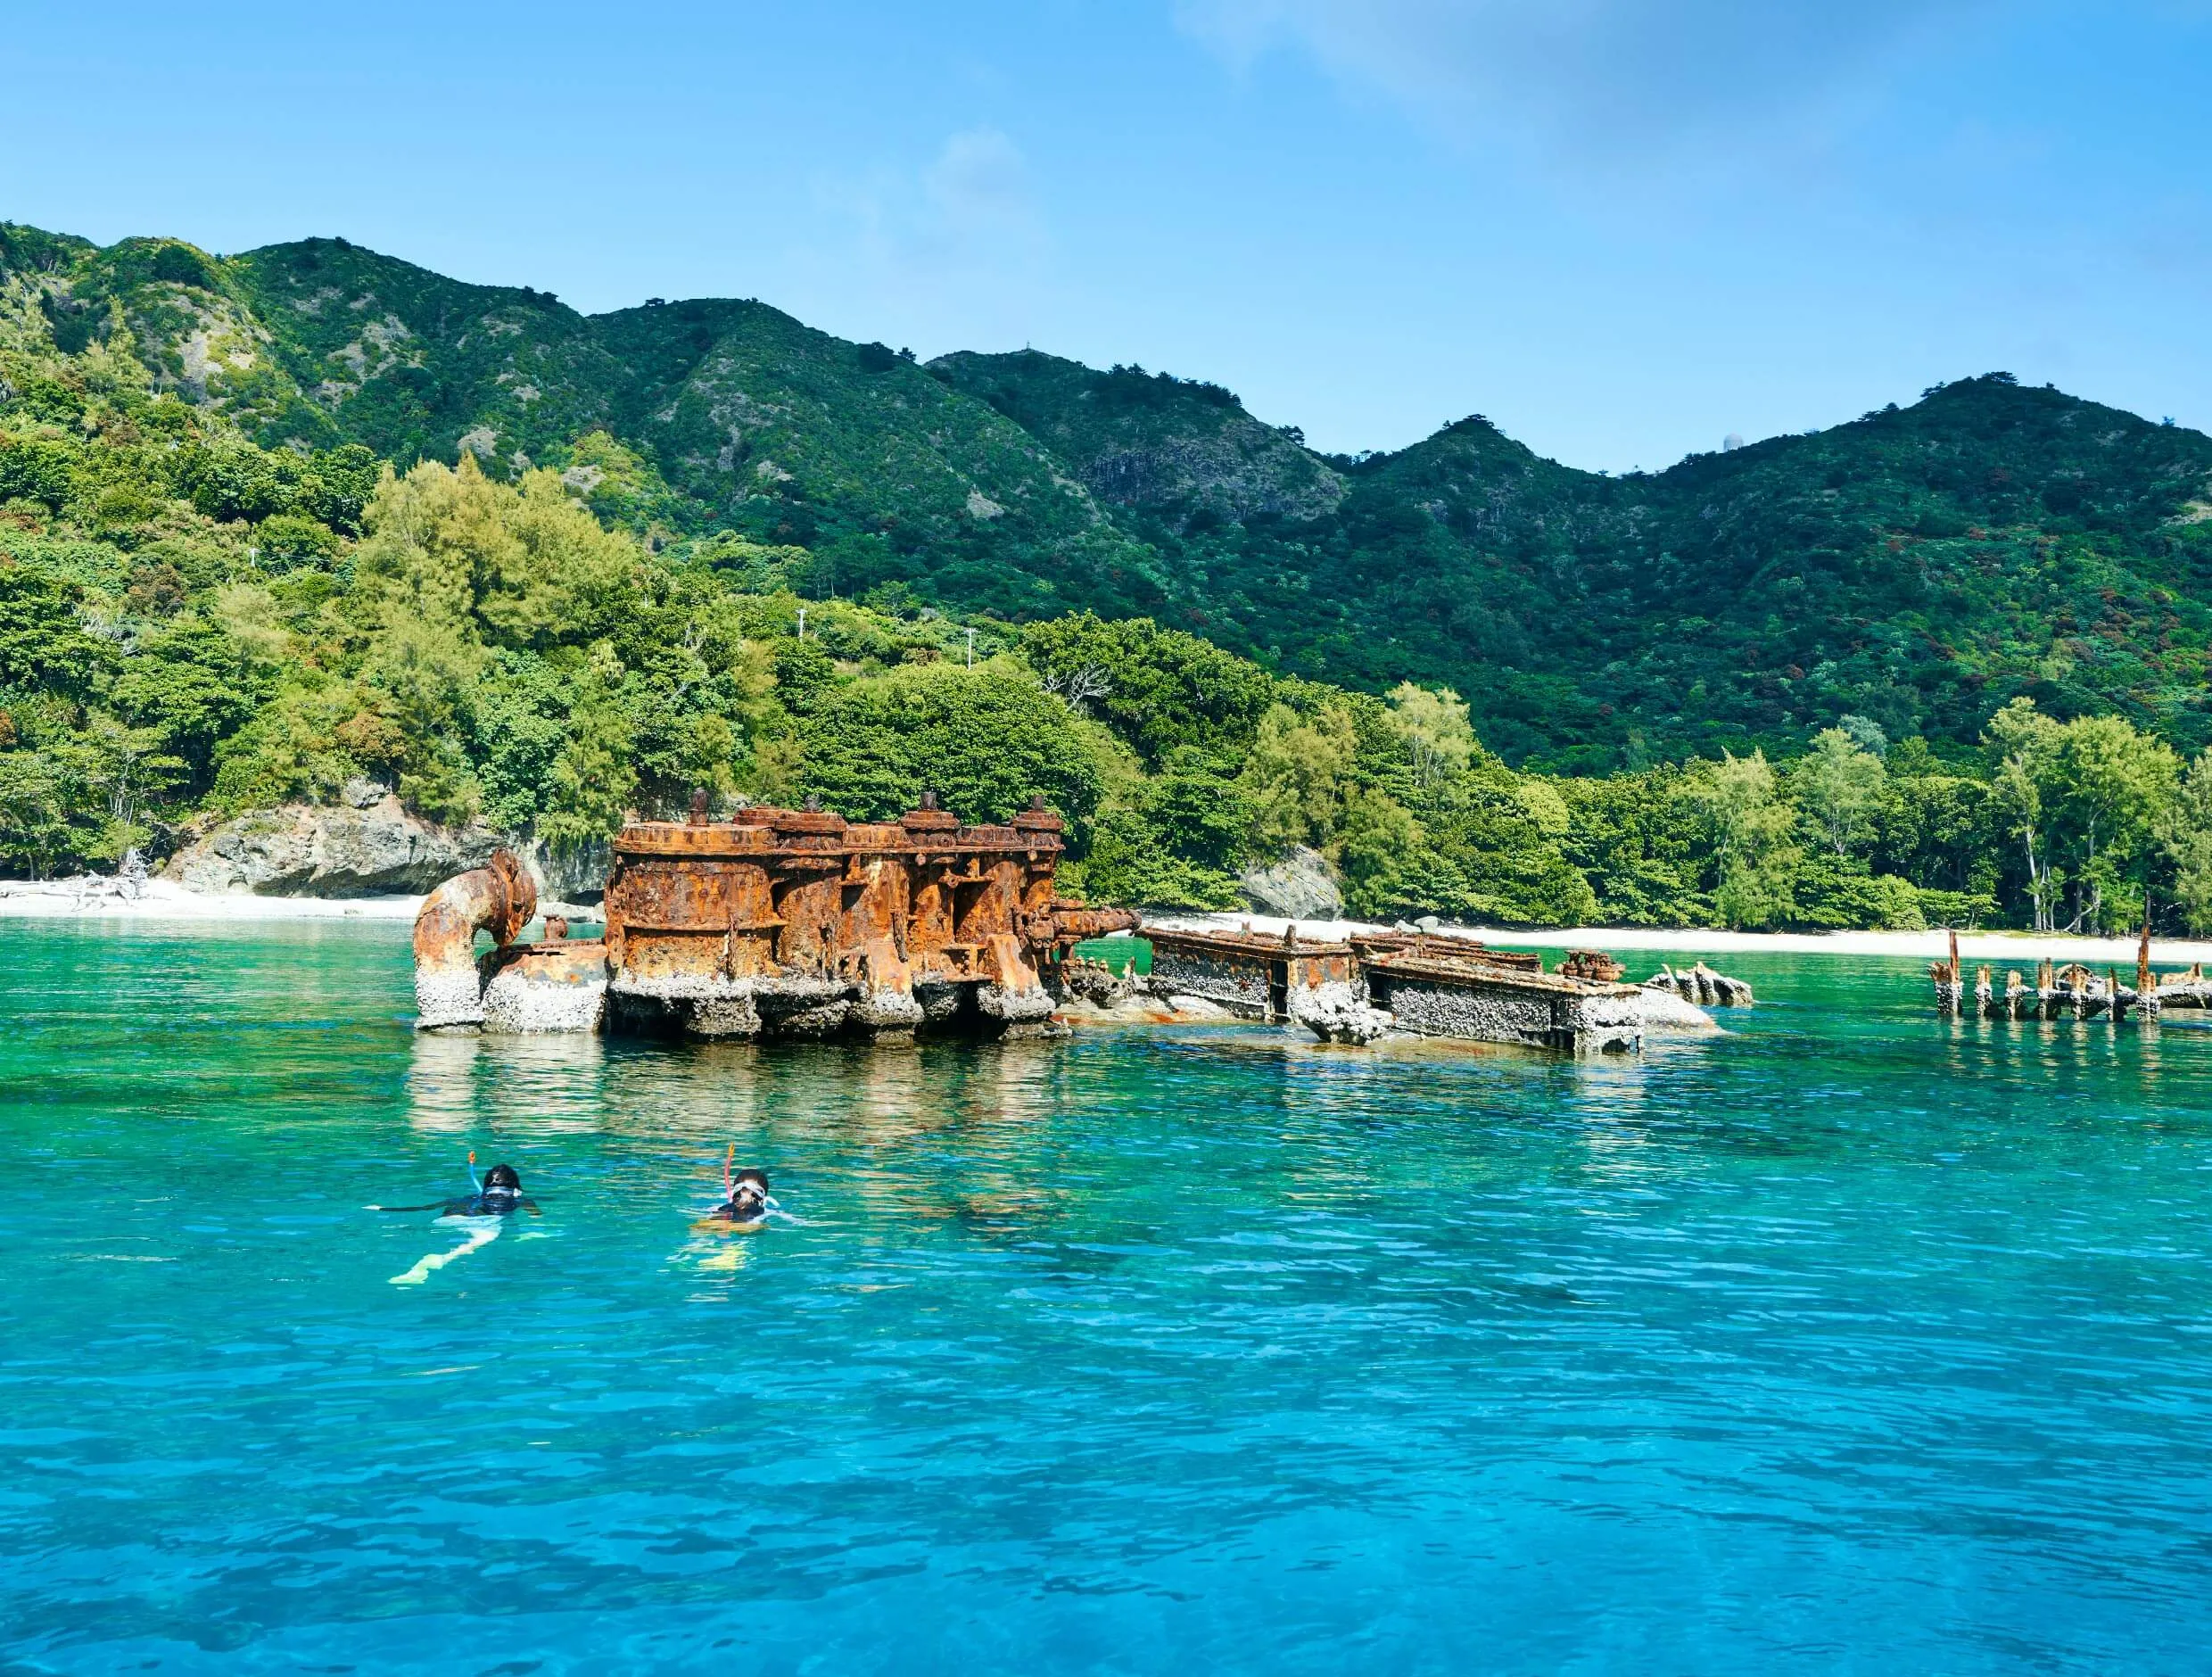
[[[1026, 1035], [1048, 1027], [1055, 967], [1137, 916], [1053, 892], [1062, 821], [1033, 799], [962, 825], [925, 796], [898, 821], [754, 805], [630, 821], [613, 845], [602, 938], [520, 942], [538, 894], [500, 852], [416, 918], [427, 1031], [615, 1031], [681, 1038]], [[476, 936], [491, 936], [478, 956]]]

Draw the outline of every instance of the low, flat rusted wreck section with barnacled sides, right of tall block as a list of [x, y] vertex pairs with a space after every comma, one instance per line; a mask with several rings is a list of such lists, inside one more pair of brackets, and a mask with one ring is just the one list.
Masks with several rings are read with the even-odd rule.
[[1332, 1042], [1387, 1031], [1509, 1042], [1559, 1053], [1635, 1053], [1644, 991], [1595, 949], [1555, 971], [1535, 954], [1469, 938], [1365, 934], [1345, 940], [1146, 927], [1152, 991], [1194, 996], [1252, 1020], [1305, 1024]]

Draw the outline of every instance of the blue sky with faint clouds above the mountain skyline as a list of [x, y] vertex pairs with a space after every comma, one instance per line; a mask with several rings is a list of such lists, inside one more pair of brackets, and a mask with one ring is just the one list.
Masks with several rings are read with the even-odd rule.
[[1661, 467], [2004, 367], [2212, 427], [2212, 0], [0, 11], [0, 217], [761, 296]]

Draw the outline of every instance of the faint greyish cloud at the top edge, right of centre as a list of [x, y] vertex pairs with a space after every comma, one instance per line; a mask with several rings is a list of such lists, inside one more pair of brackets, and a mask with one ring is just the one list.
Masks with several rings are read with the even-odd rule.
[[1234, 64], [1296, 49], [1462, 137], [1626, 164], [1818, 133], [1929, 29], [2008, 0], [1179, 0]]

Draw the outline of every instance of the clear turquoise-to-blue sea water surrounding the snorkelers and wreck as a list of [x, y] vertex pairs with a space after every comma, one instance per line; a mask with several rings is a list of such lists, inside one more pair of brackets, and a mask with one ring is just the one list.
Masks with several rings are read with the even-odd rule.
[[[659, 1051], [418, 1040], [394, 927], [7, 949], [4, 1670], [2208, 1664], [2212, 1031], [1745, 958], [1641, 1064]], [[730, 1142], [805, 1226], [690, 1230]], [[389, 1285], [469, 1146], [546, 1215]]]

